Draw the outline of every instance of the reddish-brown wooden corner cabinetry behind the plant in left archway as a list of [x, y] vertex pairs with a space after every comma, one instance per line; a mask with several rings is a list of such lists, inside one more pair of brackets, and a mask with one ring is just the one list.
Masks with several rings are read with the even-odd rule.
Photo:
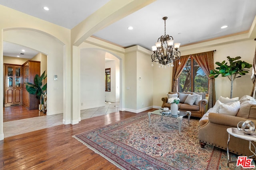
[[22, 65], [4, 64], [5, 100], [4, 107], [23, 105], [27, 109], [38, 109], [36, 95], [29, 94], [24, 82], [34, 84], [36, 74], [40, 76], [40, 61], [26, 61]]

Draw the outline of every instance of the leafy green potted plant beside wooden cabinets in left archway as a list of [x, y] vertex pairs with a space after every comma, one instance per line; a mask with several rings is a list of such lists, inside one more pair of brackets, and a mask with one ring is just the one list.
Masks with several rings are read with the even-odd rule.
[[45, 71], [43, 72], [43, 74], [41, 76], [38, 76], [38, 74], [36, 74], [35, 78], [34, 78], [34, 84], [29, 83], [29, 82], [25, 82], [24, 84], [26, 84], [26, 90], [28, 91], [28, 93], [30, 94], [36, 94], [36, 98], [39, 100], [40, 105], [39, 105], [39, 109], [40, 111], [44, 111], [44, 107], [42, 106], [42, 103], [44, 102], [43, 99], [41, 101], [41, 96], [44, 95], [44, 92], [46, 92], [47, 89], [47, 83], [43, 84], [42, 81], [44, 80], [45, 83], [45, 78], [47, 77], [47, 74], [45, 74]]

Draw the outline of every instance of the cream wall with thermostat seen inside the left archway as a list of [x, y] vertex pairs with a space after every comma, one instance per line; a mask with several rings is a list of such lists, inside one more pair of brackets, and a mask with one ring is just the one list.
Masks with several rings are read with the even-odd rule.
[[[63, 44], [52, 36], [31, 29], [12, 29], [4, 31], [3, 35], [5, 41], [48, 54], [47, 115], [63, 113]], [[54, 75], [58, 75], [58, 81], [53, 80]]]

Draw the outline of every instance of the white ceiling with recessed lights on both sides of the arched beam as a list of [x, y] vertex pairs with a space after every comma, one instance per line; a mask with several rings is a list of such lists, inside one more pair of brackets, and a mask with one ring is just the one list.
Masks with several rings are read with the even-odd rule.
[[[0, 4], [72, 29], [108, 1], [0, 0]], [[188, 45], [248, 31], [256, 16], [256, 0], [156, 0], [93, 35], [122, 47], [140, 45], [151, 50], [164, 35], [164, 16], [168, 17], [166, 34], [181, 46]], [[228, 27], [220, 29], [223, 25]], [[129, 26], [134, 29], [128, 30]], [[4, 53], [9, 54], [6, 46]]]

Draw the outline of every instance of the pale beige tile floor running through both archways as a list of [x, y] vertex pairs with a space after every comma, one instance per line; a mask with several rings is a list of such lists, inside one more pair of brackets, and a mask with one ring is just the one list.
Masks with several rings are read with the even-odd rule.
[[[81, 120], [119, 111], [118, 103], [106, 102], [106, 106], [81, 110]], [[4, 137], [11, 137], [22, 133], [62, 125], [63, 114], [32, 117], [4, 122]]]

